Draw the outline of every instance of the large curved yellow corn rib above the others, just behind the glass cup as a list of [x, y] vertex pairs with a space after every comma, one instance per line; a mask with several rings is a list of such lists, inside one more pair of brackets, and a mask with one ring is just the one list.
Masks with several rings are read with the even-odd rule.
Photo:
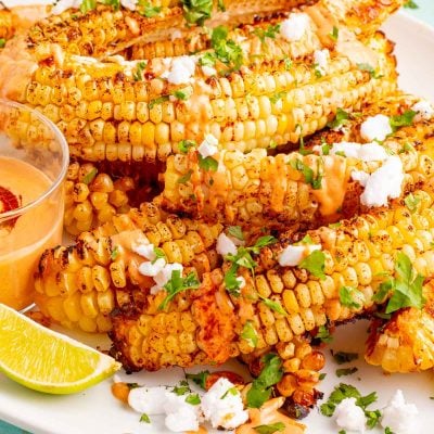
[[[234, 30], [234, 41], [240, 31], [238, 38], [244, 38], [242, 30]], [[376, 34], [362, 44], [350, 30], [341, 31], [348, 35], [333, 49], [328, 37], [331, 59], [321, 71], [314, 56], [326, 44], [310, 20], [291, 49], [280, 34], [267, 37], [267, 43], [256, 34], [240, 39], [241, 52], [246, 50], [240, 71], [207, 77], [196, 65], [194, 85], [159, 79], [178, 58], [99, 63], [47, 44], [22, 59], [25, 71], [10, 82], [7, 77], [15, 74], [16, 61], [9, 58], [16, 55], [16, 47], [7, 46], [0, 89], [56, 123], [72, 155], [86, 161], [164, 162], [178, 152], [181, 140], [201, 141], [206, 132], [222, 148], [246, 152], [271, 142], [295, 142], [322, 128], [339, 107], [358, 110], [361, 100], [373, 101], [395, 89], [391, 43]], [[360, 71], [360, 63], [369, 63], [375, 77], [382, 77]], [[232, 65], [218, 61], [216, 68], [228, 74]]]

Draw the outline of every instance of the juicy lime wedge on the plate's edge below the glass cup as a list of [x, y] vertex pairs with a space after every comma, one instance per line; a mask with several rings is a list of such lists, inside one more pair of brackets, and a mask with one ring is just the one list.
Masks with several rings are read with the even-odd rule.
[[112, 357], [0, 304], [0, 371], [35, 391], [71, 394], [120, 368]]

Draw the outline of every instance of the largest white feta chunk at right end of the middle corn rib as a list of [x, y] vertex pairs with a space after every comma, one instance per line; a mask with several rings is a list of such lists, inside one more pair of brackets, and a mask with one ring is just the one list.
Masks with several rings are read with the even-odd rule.
[[400, 196], [404, 180], [403, 163], [396, 155], [390, 156], [383, 165], [367, 179], [360, 201], [366, 206], [387, 205], [388, 199]]

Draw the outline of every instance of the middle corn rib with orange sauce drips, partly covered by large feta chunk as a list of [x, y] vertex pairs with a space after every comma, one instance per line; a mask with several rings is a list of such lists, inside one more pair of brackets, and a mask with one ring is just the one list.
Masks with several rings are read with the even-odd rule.
[[[432, 145], [425, 140], [433, 126], [434, 122], [414, 123], [383, 142], [387, 153], [401, 159], [406, 174], [403, 191], [433, 175]], [[359, 136], [359, 122], [355, 129]], [[425, 140], [423, 145], [421, 139]], [[204, 164], [194, 148], [184, 155], [170, 156], [164, 175], [162, 206], [229, 225], [318, 226], [366, 210], [360, 203], [362, 188], [352, 179], [352, 174], [354, 170], [372, 174], [381, 165], [378, 161], [361, 162], [345, 154], [293, 152], [267, 156], [265, 150], [258, 149], [248, 154], [220, 151], [212, 158], [214, 168]]]

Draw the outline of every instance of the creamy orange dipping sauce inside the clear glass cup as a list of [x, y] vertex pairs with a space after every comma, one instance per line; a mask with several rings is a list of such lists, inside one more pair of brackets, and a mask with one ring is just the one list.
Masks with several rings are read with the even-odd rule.
[[[0, 187], [18, 199], [20, 207], [40, 197], [52, 183], [34, 166], [0, 156]], [[42, 252], [62, 241], [63, 191], [53, 192], [8, 226], [1, 224], [5, 210], [0, 195], [0, 303], [23, 309], [33, 303], [34, 272]]]

